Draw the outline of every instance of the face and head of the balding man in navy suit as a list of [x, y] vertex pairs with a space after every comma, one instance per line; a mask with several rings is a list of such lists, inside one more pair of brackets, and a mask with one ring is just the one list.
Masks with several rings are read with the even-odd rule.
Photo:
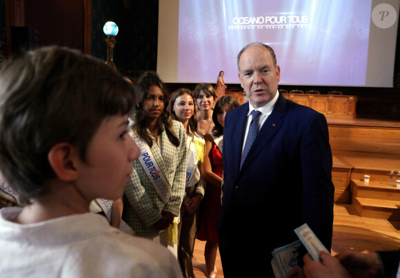
[[274, 66], [270, 51], [264, 46], [250, 46], [239, 60], [239, 79], [251, 105], [260, 108], [277, 95], [281, 79], [279, 66]]

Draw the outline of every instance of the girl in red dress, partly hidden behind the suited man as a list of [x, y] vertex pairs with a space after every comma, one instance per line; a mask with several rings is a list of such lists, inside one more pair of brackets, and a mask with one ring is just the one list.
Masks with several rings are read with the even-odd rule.
[[221, 212], [223, 123], [226, 113], [238, 106], [239, 103], [234, 97], [218, 99], [212, 113], [215, 126], [210, 134], [204, 136], [206, 155], [201, 165], [201, 175], [207, 181], [207, 190], [199, 212], [197, 239], [207, 241], [204, 257], [208, 277], [214, 277], [217, 274], [215, 259], [219, 237], [215, 226]]

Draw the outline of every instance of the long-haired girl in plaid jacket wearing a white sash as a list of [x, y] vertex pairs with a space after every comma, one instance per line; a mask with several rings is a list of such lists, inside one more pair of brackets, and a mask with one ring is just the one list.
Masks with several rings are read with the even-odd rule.
[[186, 132], [166, 109], [168, 94], [156, 72], [137, 83], [131, 136], [141, 150], [123, 197], [123, 221], [139, 237], [157, 241], [177, 256], [178, 216], [186, 182]]

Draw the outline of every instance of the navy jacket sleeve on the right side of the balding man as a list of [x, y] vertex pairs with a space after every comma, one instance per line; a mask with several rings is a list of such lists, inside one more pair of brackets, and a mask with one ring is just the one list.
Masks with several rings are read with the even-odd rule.
[[[328, 124], [321, 115], [308, 117], [300, 142], [303, 196], [302, 223], [307, 223], [321, 243], [330, 250], [332, 245], [333, 197], [332, 152]], [[301, 257], [306, 252], [301, 254]], [[301, 257], [299, 263], [302, 263]]]

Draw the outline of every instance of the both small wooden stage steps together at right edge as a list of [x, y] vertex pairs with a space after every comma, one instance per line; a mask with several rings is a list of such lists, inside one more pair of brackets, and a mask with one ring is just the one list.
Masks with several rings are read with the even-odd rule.
[[400, 188], [387, 183], [352, 179], [352, 207], [361, 217], [400, 221]]

